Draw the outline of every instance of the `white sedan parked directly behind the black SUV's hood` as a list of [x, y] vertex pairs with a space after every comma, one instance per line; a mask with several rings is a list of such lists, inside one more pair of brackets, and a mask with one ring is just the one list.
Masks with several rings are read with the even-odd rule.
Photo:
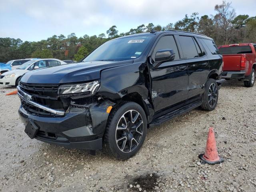
[[40, 68], [55, 67], [63, 64], [66, 63], [58, 59], [33, 59], [22, 64], [15, 70], [3, 73], [0, 76], [0, 85], [17, 86], [20, 77], [26, 72]]

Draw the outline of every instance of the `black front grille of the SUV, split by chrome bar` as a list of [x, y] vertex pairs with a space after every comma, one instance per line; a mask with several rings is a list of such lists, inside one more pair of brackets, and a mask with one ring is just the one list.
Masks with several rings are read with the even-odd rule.
[[[42, 104], [55, 110], [66, 110], [58, 96], [58, 84], [26, 84], [20, 82], [22, 91], [32, 95], [34, 102]], [[21, 100], [22, 107], [32, 115], [37, 116], [58, 116]]]

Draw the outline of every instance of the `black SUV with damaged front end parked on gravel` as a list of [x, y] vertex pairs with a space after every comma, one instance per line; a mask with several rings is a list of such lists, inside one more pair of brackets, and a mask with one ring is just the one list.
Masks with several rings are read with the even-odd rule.
[[110, 40], [82, 62], [28, 72], [19, 114], [30, 138], [128, 159], [147, 128], [218, 102], [222, 56], [207, 36], [182, 31]]

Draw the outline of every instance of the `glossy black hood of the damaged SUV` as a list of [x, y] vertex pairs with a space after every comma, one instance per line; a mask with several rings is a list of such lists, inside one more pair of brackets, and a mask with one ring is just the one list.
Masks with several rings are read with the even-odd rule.
[[100, 78], [100, 71], [107, 68], [131, 64], [127, 61], [92, 61], [60, 65], [56, 67], [30, 71], [20, 79], [24, 83], [32, 84], [60, 84], [84, 82]]

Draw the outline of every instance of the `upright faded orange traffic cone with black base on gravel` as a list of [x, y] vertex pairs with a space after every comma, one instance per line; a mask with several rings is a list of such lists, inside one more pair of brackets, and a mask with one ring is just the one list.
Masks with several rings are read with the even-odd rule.
[[209, 128], [205, 152], [204, 154], [200, 154], [199, 158], [210, 165], [224, 162], [224, 158], [218, 156], [214, 130], [212, 127]]

